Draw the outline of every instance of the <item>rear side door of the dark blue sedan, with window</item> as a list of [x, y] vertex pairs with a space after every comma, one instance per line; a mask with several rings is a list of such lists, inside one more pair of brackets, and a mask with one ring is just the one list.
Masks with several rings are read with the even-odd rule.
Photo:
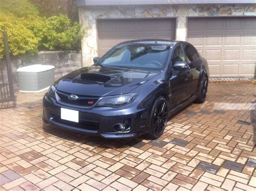
[[200, 78], [200, 67], [202, 60], [197, 54], [195, 48], [190, 44], [184, 44], [185, 59], [190, 66], [190, 80], [191, 80], [191, 96], [197, 93], [197, 87]]

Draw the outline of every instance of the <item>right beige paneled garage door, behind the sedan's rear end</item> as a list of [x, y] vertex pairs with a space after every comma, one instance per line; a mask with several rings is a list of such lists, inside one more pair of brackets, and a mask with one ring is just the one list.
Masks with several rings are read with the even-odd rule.
[[254, 77], [256, 18], [189, 18], [188, 42], [205, 57], [212, 77]]

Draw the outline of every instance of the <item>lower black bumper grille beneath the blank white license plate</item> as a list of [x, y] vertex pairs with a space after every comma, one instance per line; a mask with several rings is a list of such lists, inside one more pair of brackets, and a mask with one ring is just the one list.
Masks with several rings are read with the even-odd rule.
[[79, 119], [79, 122], [72, 122], [68, 120], [61, 119], [59, 115], [51, 113], [51, 117], [54, 121], [59, 122], [60, 124], [77, 127], [86, 130], [98, 131], [99, 129], [99, 122], [91, 122], [91, 121], [84, 121]]

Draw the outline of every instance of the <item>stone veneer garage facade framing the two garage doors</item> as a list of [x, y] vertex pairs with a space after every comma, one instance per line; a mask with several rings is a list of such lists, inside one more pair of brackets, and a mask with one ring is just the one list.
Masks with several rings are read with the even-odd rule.
[[98, 54], [96, 21], [99, 18], [177, 18], [176, 39], [186, 40], [187, 17], [212, 16], [256, 16], [256, 5], [120, 5], [79, 8], [80, 23], [87, 27], [82, 40], [83, 65], [90, 65], [93, 57]]

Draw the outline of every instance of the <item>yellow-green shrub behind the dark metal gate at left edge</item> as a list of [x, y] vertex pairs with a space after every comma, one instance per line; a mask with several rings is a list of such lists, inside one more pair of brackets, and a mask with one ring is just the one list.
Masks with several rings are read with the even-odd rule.
[[37, 52], [39, 38], [25, 27], [23, 19], [16, 18], [10, 14], [6, 16], [0, 12], [0, 57], [4, 55], [2, 26], [5, 26], [5, 30], [8, 33], [12, 55]]

